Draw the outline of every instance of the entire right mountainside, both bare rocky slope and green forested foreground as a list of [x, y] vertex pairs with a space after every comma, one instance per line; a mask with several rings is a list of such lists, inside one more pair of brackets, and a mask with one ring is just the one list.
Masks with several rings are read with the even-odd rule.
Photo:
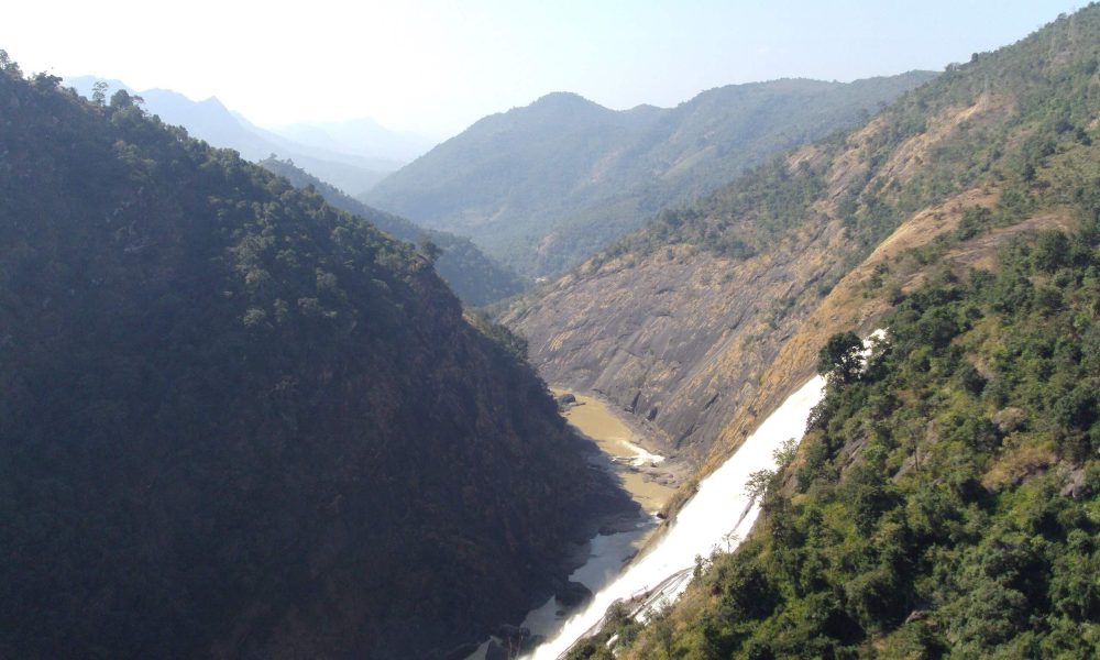
[[1093, 4], [506, 314], [550, 382], [651, 419], [702, 473], [829, 381], [741, 549], [573, 658], [1096, 657], [1098, 63]]

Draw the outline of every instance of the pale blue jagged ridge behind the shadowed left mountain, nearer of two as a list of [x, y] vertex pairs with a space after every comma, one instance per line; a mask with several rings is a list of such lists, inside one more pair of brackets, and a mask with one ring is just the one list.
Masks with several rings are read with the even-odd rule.
[[258, 161], [272, 154], [290, 158], [323, 180], [345, 190], [370, 188], [403, 163], [400, 160], [364, 156], [339, 148], [319, 148], [294, 142], [250, 123], [240, 114], [231, 112], [215, 97], [193, 101], [169, 89], [135, 92], [119, 80], [102, 80], [94, 76], [65, 79], [66, 85], [85, 98], [91, 98], [92, 86], [97, 81], [108, 84], [108, 97], [118, 89], [139, 96], [152, 114], [156, 114], [165, 123], [184, 127], [191, 136], [213, 146], [237, 150], [249, 161]]

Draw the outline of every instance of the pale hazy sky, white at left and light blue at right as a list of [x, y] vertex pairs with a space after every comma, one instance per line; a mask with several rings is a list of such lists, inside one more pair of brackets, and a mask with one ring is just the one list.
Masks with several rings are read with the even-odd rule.
[[262, 125], [372, 117], [442, 138], [551, 91], [674, 106], [780, 77], [939, 70], [1066, 0], [81, 0], [4, 8], [24, 72], [217, 96]]

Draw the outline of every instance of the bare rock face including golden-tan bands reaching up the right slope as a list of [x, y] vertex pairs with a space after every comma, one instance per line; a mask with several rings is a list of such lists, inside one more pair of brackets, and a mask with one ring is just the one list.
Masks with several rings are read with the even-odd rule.
[[[996, 191], [971, 190], [914, 213], [833, 287], [837, 264], [858, 246], [839, 222], [818, 218], [745, 261], [678, 245], [582, 270], [504, 320], [528, 339], [548, 382], [604, 394], [648, 420], [667, 451], [703, 462], [715, 442], [735, 446], [813, 375], [832, 333], [875, 328], [890, 308], [865, 296], [877, 270], [954, 231], [965, 209], [996, 201]], [[1027, 219], [963, 242], [937, 265], [961, 275], [1021, 232], [1069, 223]], [[900, 290], [930, 270], [895, 267]]]

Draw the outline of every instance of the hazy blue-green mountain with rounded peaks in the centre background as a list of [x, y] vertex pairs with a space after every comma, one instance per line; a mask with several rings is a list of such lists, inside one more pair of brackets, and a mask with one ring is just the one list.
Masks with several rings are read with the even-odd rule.
[[548, 275], [933, 76], [735, 85], [672, 109], [626, 111], [552, 94], [482, 119], [361, 198], [469, 235], [525, 275]]

